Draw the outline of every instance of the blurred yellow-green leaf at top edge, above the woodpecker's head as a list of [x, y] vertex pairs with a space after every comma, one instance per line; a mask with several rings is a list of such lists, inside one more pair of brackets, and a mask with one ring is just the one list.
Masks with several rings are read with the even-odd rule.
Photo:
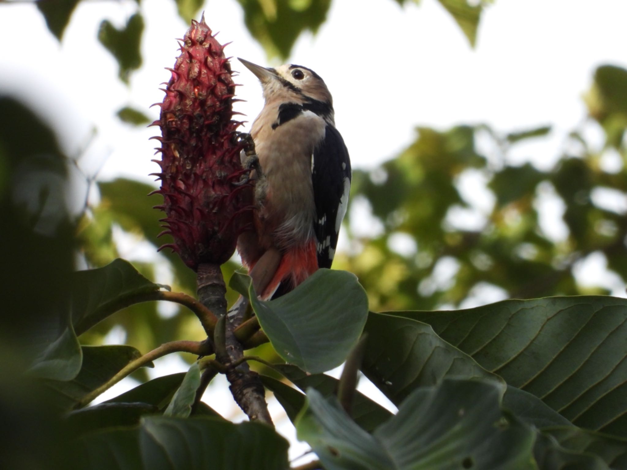
[[303, 31], [316, 33], [331, 0], [238, 0], [246, 28], [263, 46], [268, 57], [287, 59]]

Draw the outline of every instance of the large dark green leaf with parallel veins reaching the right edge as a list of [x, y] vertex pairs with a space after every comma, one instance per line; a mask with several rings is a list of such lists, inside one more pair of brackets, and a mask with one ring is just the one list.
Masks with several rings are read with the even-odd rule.
[[627, 300], [507, 300], [395, 315], [429, 323], [482, 367], [573, 424], [627, 436]]

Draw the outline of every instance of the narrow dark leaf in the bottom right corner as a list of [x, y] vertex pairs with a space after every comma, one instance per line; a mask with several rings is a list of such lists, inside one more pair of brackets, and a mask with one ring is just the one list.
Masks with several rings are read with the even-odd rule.
[[611, 468], [627, 468], [627, 439], [574, 426], [546, 427], [542, 432], [556, 439], [564, 449], [594, 454]]

